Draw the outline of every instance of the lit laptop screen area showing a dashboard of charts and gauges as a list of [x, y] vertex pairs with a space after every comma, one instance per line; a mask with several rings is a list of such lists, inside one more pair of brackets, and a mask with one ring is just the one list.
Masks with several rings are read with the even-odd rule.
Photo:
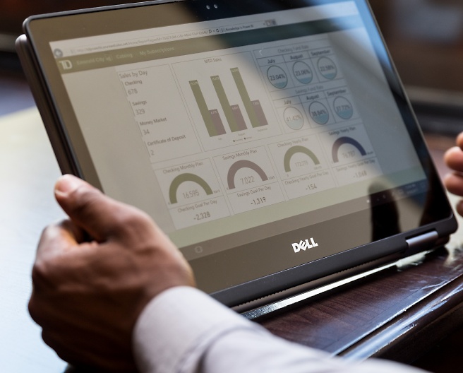
[[102, 188], [187, 259], [426, 189], [352, 1], [50, 48]]

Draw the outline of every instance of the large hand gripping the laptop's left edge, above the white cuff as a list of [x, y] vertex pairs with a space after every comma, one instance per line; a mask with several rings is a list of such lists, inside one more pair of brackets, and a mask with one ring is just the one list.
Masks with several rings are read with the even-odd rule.
[[131, 337], [140, 312], [163, 290], [193, 286], [191, 268], [138, 209], [70, 175], [56, 182], [55, 196], [70, 220], [42, 233], [30, 315], [63, 360], [131, 372]]

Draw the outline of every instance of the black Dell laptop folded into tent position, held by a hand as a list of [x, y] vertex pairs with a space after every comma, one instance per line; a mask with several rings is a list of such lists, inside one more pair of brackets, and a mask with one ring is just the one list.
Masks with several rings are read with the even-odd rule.
[[148, 1], [24, 31], [61, 171], [150, 214], [229, 307], [375, 271], [457, 228], [365, 0]]

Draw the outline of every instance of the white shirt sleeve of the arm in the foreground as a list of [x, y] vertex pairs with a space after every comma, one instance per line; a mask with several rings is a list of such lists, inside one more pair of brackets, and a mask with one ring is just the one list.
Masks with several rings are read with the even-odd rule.
[[394, 362], [351, 362], [284, 341], [200, 290], [172, 288], [153, 299], [133, 331], [142, 373], [418, 373]]

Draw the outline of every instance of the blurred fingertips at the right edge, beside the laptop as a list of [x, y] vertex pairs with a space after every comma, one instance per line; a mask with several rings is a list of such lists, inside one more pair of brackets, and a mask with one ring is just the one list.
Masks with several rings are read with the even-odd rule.
[[[445, 187], [450, 193], [463, 196], [463, 132], [457, 136], [457, 146], [447, 150], [444, 160], [453, 170], [444, 178]], [[457, 203], [456, 209], [459, 215], [463, 215], [463, 201]]]

